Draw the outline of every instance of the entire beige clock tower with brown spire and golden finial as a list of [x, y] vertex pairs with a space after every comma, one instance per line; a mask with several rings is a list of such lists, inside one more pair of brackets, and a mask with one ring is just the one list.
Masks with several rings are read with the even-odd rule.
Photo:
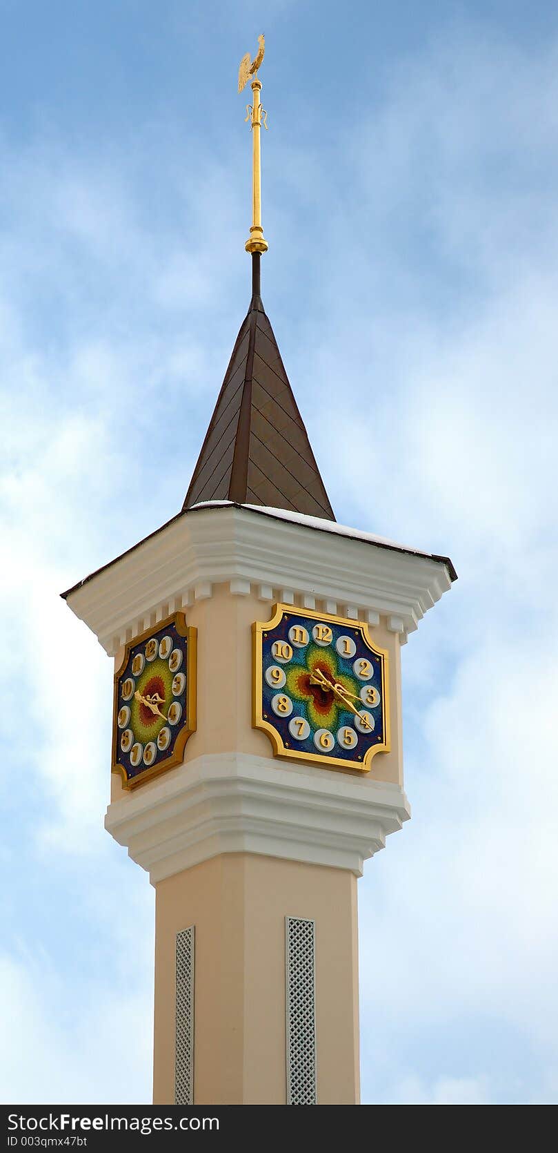
[[401, 646], [455, 579], [335, 521], [261, 296], [263, 52], [251, 300], [182, 510], [63, 594], [114, 658], [105, 827], [156, 890], [156, 1105], [359, 1102], [357, 879], [409, 817]]

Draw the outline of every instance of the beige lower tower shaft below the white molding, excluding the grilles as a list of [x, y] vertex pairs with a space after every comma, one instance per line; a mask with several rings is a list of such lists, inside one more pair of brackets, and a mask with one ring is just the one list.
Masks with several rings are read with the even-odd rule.
[[156, 889], [153, 1102], [174, 1101], [175, 940], [195, 925], [195, 1103], [286, 1103], [285, 917], [301, 917], [316, 922], [318, 1103], [357, 1103], [356, 877], [233, 853]]

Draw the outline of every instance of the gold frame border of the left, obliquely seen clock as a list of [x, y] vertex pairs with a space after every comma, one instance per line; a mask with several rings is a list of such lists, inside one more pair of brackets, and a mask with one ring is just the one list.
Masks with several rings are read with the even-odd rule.
[[[174, 625], [176, 632], [180, 636], [186, 636], [187, 650], [186, 650], [186, 724], [181, 729], [173, 748], [171, 756], [159, 764], [152, 764], [150, 769], [145, 769], [138, 777], [129, 778], [126, 768], [119, 762], [118, 754], [118, 724], [116, 724], [116, 704], [118, 704], [118, 684], [122, 670], [128, 663], [128, 656], [130, 649], [136, 648], [142, 641], [146, 641], [153, 633], [158, 633], [161, 628], [166, 628], [167, 625]], [[197, 628], [193, 625], [186, 623], [186, 616], [183, 612], [173, 612], [169, 617], [165, 617], [164, 620], [157, 621], [156, 625], [151, 625], [138, 636], [134, 636], [133, 640], [127, 641], [125, 645], [125, 654], [118, 666], [114, 670], [114, 688], [113, 688], [113, 736], [112, 736], [112, 767], [111, 773], [118, 773], [122, 779], [123, 789], [136, 789], [142, 785], [144, 781], [152, 781], [153, 777], [160, 776], [161, 773], [166, 773], [167, 769], [174, 769], [176, 764], [181, 764], [183, 760], [183, 753], [186, 744], [191, 737], [193, 732], [196, 731], [197, 716], [196, 716], [196, 701], [197, 701]]]

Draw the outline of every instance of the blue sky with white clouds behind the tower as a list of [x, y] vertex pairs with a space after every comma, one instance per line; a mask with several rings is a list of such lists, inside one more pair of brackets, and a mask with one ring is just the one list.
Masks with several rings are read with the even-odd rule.
[[263, 299], [329, 495], [460, 576], [402, 650], [363, 1100], [557, 1102], [555, 6], [0, 14], [2, 1097], [150, 1100], [153, 894], [103, 829], [111, 662], [58, 594], [182, 503], [249, 301], [264, 31]]

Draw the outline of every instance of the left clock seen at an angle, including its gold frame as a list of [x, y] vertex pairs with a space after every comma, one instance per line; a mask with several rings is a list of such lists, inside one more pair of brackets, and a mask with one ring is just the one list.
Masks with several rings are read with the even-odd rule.
[[126, 646], [113, 724], [113, 771], [126, 787], [182, 760], [196, 728], [196, 630], [182, 612]]

